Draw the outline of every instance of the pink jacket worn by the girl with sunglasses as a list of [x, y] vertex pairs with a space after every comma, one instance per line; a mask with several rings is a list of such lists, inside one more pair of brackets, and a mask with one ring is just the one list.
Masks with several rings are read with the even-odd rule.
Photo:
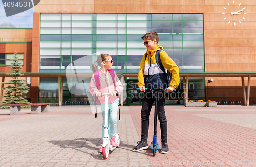
[[[115, 72], [114, 72], [115, 73]], [[99, 70], [99, 90], [97, 89], [96, 83], [95, 83], [95, 76], [93, 74], [91, 82], [90, 82], [90, 93], [95, 94], [96, 92], [100, 91], [102, 94], [103, 93], [111, 93], [112, 91], [117, 91], [118, 93], [123, 91], [123, 85], [120, 82], [119, 78], [117, 77], [115, 73], [115, 78], [114, 78], [116, 87], [114, 86], [113, 79], [109, 73], [109, 70], [107, 70], [106, 73], [104, 73], [101, 69]], [[105, 104], [105, 98], [98, 97], [99, 101], [101, 104]], [[117, 96], [109, 96], [108, 98], [108, 103], [113, 103], [115, 101], [118, 101], [119, 98]]]

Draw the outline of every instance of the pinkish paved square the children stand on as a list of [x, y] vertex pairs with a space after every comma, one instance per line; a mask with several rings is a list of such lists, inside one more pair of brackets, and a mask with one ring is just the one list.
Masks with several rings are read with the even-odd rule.
[[166, 106], [170, 151], [155, 157], [151, 149], [131, 151], [140, 139], [140, 109], [121, 107], [121, 144], [106, 160], [98, 153], [102, 116], [94, 118], [90, 107], [22, 109], [17, 116], [0, 109], [0, 166], [256, 166], [256, 106]]

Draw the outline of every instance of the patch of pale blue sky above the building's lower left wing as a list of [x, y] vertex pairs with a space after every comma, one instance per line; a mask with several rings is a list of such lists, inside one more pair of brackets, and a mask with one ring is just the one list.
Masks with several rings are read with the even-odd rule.
[[[18, 13], [13, 16], [6, 17], [3, 3], [2, 1], [0, 1], [0, 25], [4, 22], [12, 23], [13, 25], [30, 25], [29, 28], [32, 28], [33, 8], [26, 10], [22, 13]], [[26, 28], [28, 28], [28, 26], [26, 26]]]

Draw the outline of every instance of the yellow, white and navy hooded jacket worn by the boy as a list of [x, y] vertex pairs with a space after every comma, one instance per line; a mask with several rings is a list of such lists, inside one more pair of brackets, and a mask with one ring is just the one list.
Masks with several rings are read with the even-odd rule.
[[169, 70], [170, 73], [172, 73], [172, 80], [170, 81], [170, 84], [168, 86], [175, 89], [180, 83], [179, 68], [175, 64], [175, 62], [168, 56], [168, 54], [164, 51], [163, 47], [159, 44], [155, 47], [154, 50], [146, 52], [146, 60], [146, 53], [144, 54], [140, 62], [140, 69], [138, 73], [138, 86], [143, 85], [146, 88], [153, 90], [160, 90], [168, 87], [166, 87], [166, 78], [164, 72], [159, 68], [156, 62], [155, 56], [157, 50], [162, 50], [160, 52], [160, 59], [166, 73], [167, 70]]

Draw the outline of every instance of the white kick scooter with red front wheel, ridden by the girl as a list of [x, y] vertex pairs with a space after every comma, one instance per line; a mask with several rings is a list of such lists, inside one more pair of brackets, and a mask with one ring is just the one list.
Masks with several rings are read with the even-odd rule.
[[109, 132], [108, 132], [108, 96], [110, 96], [110, 93], [103, 93], [102, 96], [105, 97], [105, 123], [104, 123], [104, 138], [103, 138], [103, 150], [102, 150], [102, 154], [103, 154], [103, 158], [104, 159], [108, 159], [109, 157], [109, 150], [113, 151], [115, 150], [115, 148], [118, 148], [120, 146], [120, 137], [119, 134], [116, 134], [116, 143], [117, 146], [116, 147], [112, 147], [112, 145], [110, 144], [110, 138], [109, 138]]

